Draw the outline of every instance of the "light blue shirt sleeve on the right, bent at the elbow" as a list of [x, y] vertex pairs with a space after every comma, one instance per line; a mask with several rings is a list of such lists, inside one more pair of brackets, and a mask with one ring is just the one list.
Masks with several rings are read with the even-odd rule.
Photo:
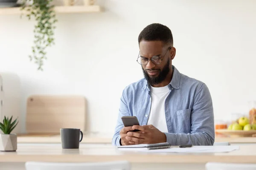
[[204, 83], [198, 88], [191, 111], [191, 133], [165, 133], [172, 145], [213, 145], [215, 141], [212, 98]]

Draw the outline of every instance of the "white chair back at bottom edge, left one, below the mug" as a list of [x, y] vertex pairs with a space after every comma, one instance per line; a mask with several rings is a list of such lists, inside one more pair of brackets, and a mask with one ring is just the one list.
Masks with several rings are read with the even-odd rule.
[[128, 161], [67, 163], [67, 162], [35, 162], [25, 163], [26, 170], [131, 170]]

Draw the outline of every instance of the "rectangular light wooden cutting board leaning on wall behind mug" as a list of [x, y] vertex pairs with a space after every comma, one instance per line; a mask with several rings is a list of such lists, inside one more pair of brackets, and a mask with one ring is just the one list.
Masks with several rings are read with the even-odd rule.
[[28, 134], [60, 134], [61, 128], [79, 128], [84, 132], [85, 120], [86, 105], [83, 96], [32, 95], [27, 99]]

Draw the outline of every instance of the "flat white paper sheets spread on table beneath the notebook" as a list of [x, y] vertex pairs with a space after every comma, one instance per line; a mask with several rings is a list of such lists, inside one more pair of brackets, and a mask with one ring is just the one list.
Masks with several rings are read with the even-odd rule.
[[123, 151], [139, 151], [148, 153], [224, 153], [233, 150], [239, 150], [239, 146], [192, 146], [192, 147], [170, 147], [167, 149], [152, 149], [145, 150], [145, 148], [119, 148]]

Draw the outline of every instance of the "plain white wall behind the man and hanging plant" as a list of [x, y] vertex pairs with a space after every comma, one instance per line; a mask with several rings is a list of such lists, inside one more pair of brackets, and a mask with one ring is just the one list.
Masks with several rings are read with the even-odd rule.
[[97, 0], [99, 14], [58, 14], [56, 45], [44, 71], [29, 61], [33, 21], [0, 16], [0, 71], [22, 85], [23, 130], [31, 94], [81, 94], [88, 100], [90, 130], [113, 133], [123, 88], [143, 77], [137, 37], [151, 23], [173, 33], [173, 65], [205, 82], [216, 119], [247, 112], [256, 99], [256, 1]]

